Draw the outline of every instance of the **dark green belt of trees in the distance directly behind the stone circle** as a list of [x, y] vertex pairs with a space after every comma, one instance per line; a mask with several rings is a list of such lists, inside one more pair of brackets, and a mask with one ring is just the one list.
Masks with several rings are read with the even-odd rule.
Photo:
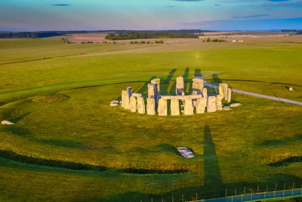
[[195, 34], [171, 34], [171, 33], [165, 33], [165, 32], [157, 32], [157, 33], [150, 33], [147, 32], [130, 32], [127, 34], [108, 34], [105, 39], [108, 40], [130, 40], [130, 39], [157, 39], [157, 38], [199, 38]]

